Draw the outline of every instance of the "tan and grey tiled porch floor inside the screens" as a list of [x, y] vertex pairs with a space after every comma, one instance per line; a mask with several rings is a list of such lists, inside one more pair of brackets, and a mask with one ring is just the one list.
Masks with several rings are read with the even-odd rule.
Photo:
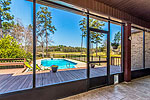
[[94, 89], [61, 100], [150, 100], [150, 76]]

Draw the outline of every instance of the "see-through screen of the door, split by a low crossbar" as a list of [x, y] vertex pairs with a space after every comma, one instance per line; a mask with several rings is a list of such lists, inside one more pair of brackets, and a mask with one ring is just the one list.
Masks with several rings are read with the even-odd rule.
[[[90, 61], [105, 61], [90, 64], [90, 78], [107, 75], [107, 34], [90, 31]], [[96, 38], [95, 38], [96, 36]]]

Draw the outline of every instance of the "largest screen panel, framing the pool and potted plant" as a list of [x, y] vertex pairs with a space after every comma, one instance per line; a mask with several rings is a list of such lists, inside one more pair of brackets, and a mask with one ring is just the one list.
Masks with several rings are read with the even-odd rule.
[[37, 4], [36, 21], [36, 86], [85, 79], [86, 17]]

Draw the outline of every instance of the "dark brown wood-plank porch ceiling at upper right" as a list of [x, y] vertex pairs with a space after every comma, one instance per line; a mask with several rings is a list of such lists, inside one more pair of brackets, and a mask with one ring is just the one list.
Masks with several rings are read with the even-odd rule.
[[150, 22], [150, 0], [96, 0]]

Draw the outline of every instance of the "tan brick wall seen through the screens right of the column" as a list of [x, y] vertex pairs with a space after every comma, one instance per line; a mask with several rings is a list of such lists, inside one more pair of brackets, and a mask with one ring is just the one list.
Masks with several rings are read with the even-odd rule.
[[[145, 32], [145, 67], [150, 68], [150, 33]], [[132, 33], [131, 69], [143, 68], [143, 32]]]

